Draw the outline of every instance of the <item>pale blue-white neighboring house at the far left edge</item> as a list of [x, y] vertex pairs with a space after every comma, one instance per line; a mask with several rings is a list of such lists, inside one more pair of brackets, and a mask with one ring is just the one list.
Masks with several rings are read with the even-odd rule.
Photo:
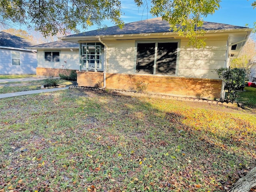
[[0, 74], [36, 74], [36, 52], [24, 38], [0, 32]]

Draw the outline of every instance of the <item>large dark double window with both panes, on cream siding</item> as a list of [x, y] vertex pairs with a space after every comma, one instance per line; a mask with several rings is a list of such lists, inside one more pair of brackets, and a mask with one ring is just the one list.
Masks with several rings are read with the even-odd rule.
[[178, 42], [137, 44], [136, 73], [175, 75]]

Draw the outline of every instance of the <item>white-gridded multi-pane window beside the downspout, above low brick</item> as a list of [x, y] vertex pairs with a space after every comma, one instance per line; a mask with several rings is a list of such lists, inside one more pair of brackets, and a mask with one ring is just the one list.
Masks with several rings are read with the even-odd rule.
[[102, 69], [102, 48], [103, 45], [101, 43], [82, 44], [82, 67], [94, 71]]

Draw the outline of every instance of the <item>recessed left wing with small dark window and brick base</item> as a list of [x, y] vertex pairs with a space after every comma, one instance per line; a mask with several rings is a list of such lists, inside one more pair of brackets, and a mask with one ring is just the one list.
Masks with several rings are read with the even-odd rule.
[[37, 77], [59, 77], [79, 70], [79, 44], [55, 41], [29, 47], [37, 50]]

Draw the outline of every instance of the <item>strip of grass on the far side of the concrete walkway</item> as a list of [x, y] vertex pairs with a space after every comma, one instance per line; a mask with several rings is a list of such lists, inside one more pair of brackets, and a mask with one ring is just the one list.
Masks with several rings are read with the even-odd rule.
[[[44, 84], [45, 84], [44, 80], [0, 83], [0, 94], [38, 90], [38, 89], [41, 89], [41, 86]], [[72, 84], [73, 84], [72, 81], [58, 80], [58, 85], [61, 85], [61, 86], [70, 86]]]

